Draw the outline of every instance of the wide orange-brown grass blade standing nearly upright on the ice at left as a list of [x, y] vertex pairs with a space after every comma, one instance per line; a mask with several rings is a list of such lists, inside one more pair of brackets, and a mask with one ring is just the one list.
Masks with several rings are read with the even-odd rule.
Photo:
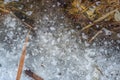
[[24, 61], [25, 61], [26, 48], [27, 48], [27, 42], [28, 42], [28, 39], [29, 39], [28, 38], [29, 34], [30, 34], [30, 31], [28, 32], [28, 34], [26, 36], [26, 39], [25, 39], [25, 44], [23, 46], [23, 50], [22, 50], [22, 54], [21, 54], [16, 80], [20, 80], [20, 77], [21, 77], [21, 74], [22, 74], [22, 69], [23, 69], [23, 65], [24, 65]]

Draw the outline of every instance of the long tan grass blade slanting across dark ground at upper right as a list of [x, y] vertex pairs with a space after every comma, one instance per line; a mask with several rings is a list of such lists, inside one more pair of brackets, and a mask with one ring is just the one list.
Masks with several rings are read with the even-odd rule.
[[89, 25], [83, 27], [81, 31], [90, 28], [90, 27], [93, 26], [95, 23], [102, 21], [103, 19], [107, 18], [109, 15], [113, 14], [113, 13], [116, 12], [116, 11], [117, 11], [117, 9], [115, 9], [115, 10], [113, 10], [113, 11], [110, 11], [109, 13], [106, 13], [104, 16], [102, 16], [102, 17], [98, 18], [97, 20], [95, 20], [92, 24], [89, 24]]

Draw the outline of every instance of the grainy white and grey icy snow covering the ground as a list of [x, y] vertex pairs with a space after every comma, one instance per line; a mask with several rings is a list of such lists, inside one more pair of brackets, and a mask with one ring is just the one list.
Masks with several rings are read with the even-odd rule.
[[[119, 46], [86, 47], [63, 13], [44, 11], [30, 35], [24, 70], [44, 80], [120, 80]], [[0, 80], [15, 80], [28, 29], [11, 15], [0, 21]], [[21, 80], [32, 79], [23, 72]]]

